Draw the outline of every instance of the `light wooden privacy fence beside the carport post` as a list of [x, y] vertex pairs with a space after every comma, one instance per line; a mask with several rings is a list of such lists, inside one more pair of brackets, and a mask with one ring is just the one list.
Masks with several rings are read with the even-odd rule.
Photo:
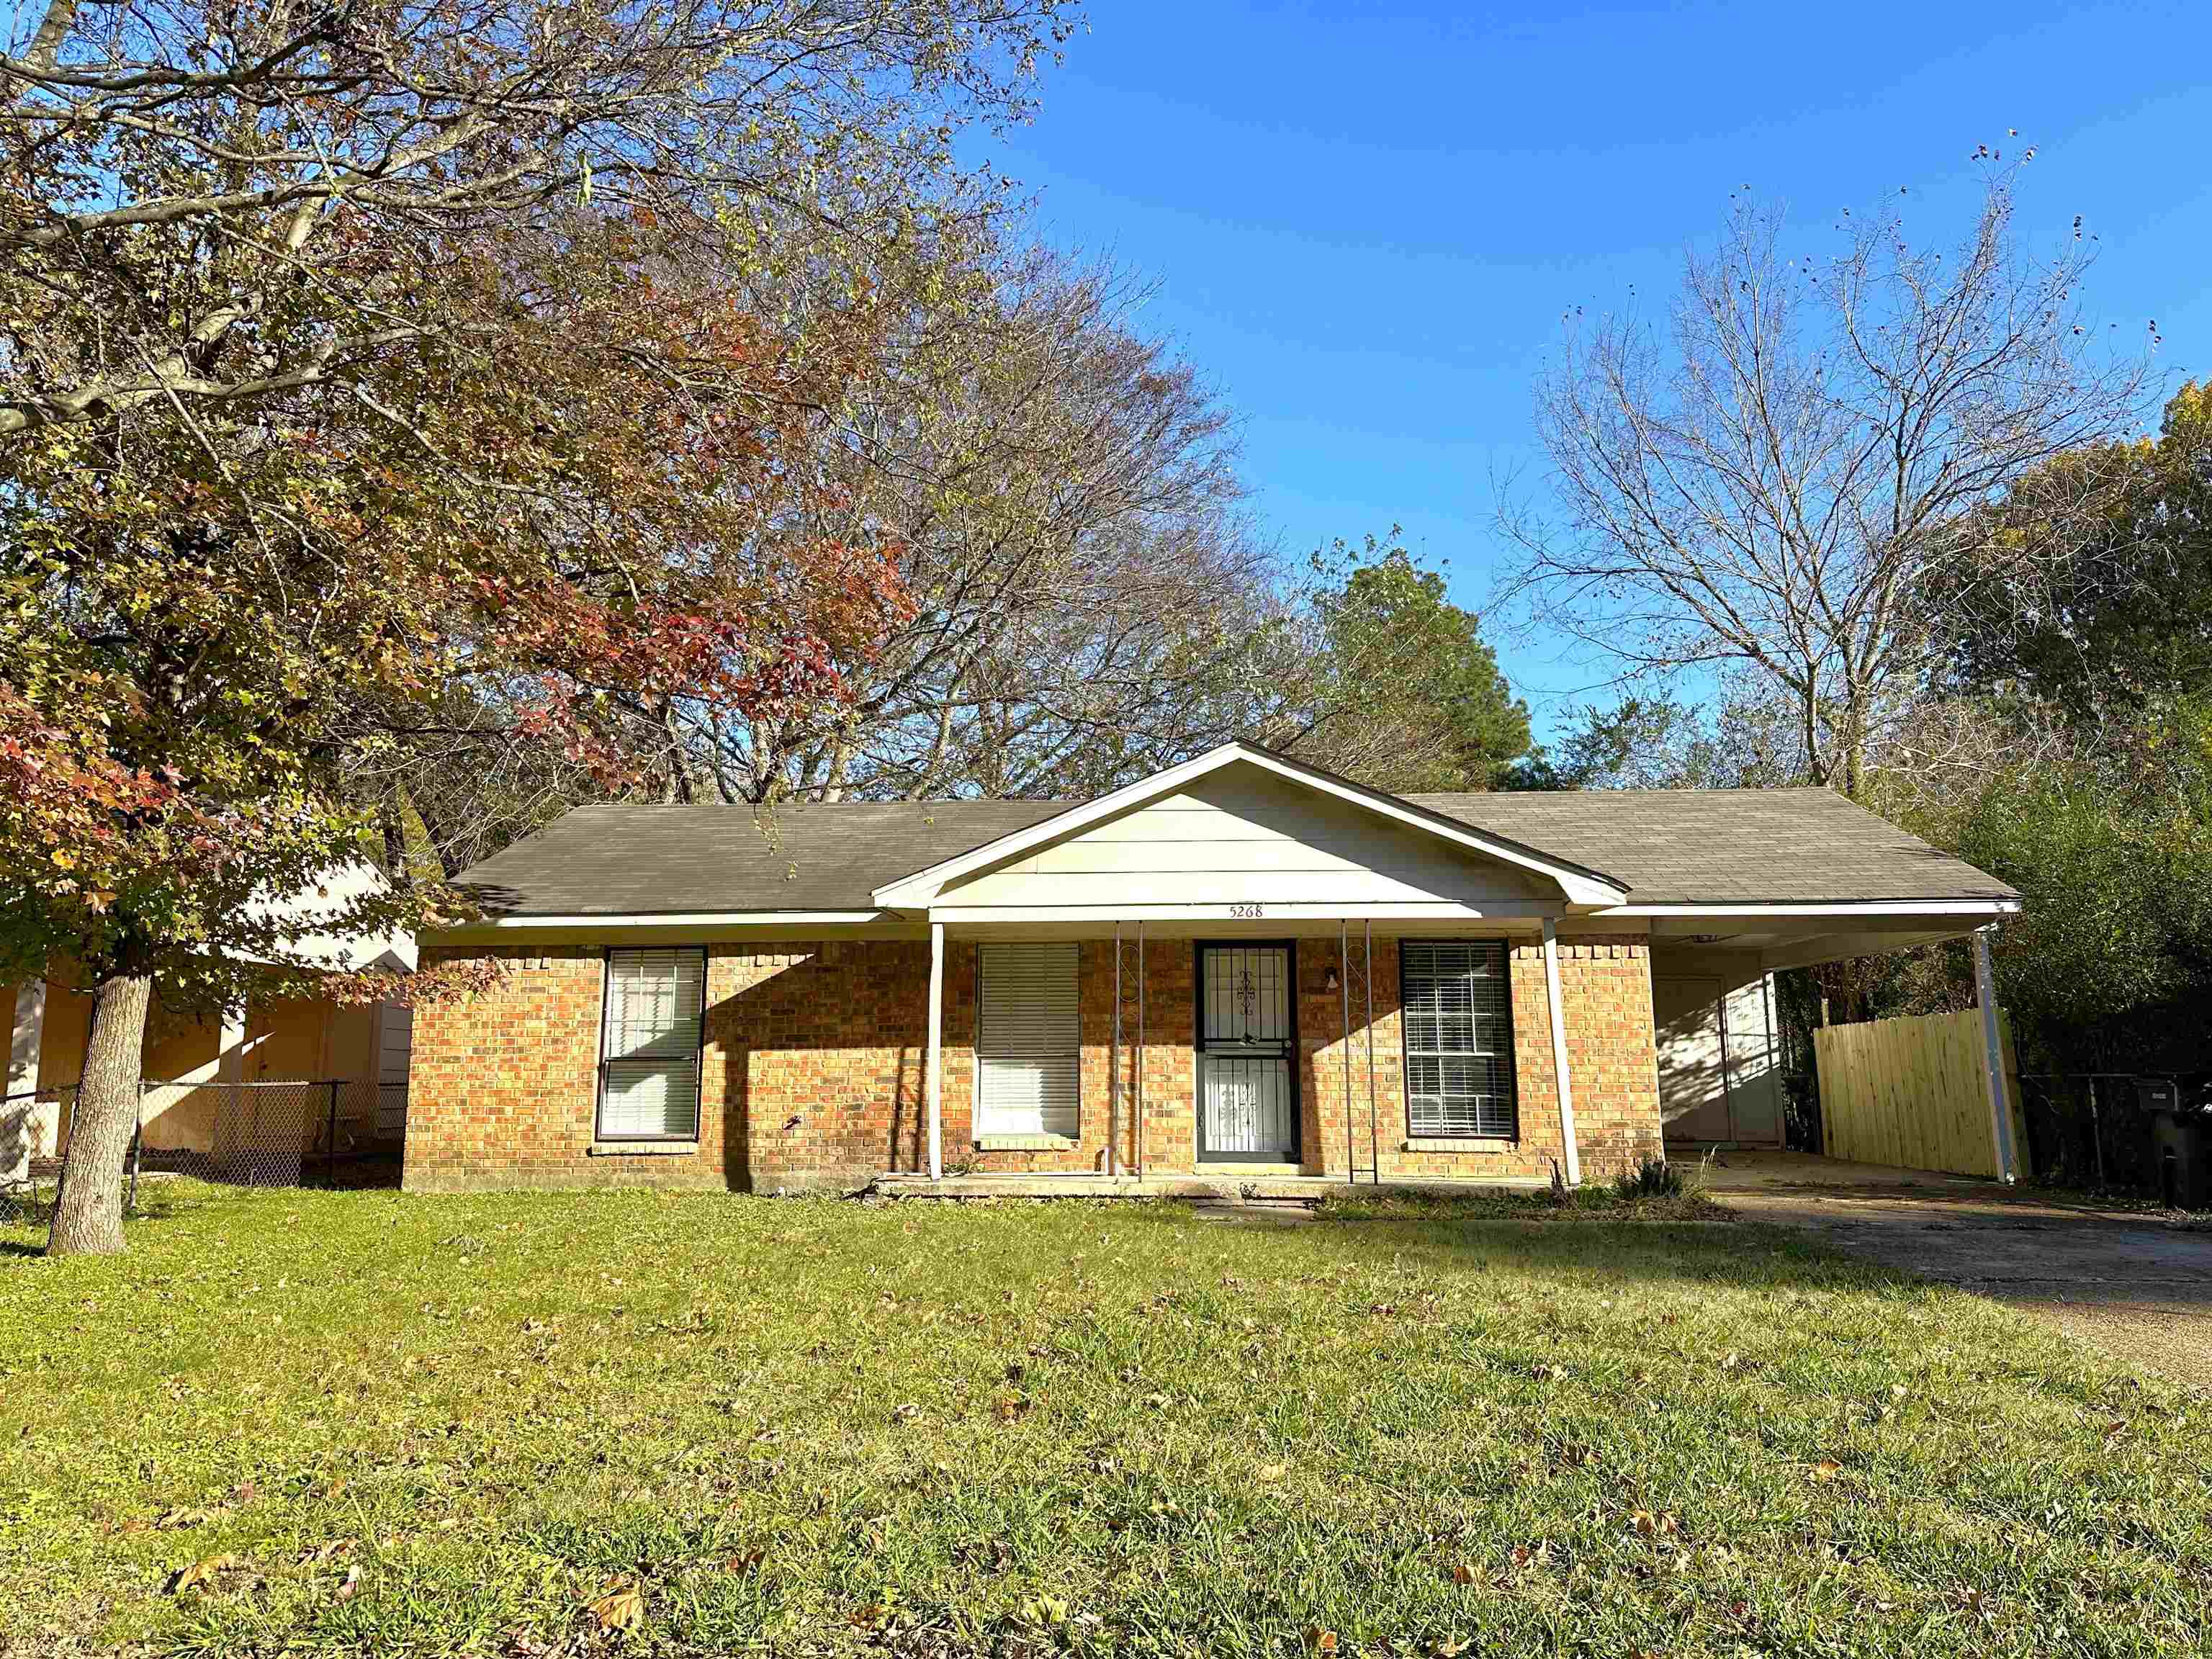
[[[2013, 1029], [1997, 1013], [2013, 1159], [2026, 1155]], [[1991, 1144], [1982, 1013], [1823, 1026], [1812, 1033], [1820, 1077], [1820, 1150], [1854, 1164], [1997, 1177]]]

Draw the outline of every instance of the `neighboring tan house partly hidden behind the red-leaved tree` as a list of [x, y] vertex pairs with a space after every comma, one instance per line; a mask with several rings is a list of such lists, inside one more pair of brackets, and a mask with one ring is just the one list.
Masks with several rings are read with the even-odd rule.
[[[327, 876], [319, 891], [296, 894], [283, 907], [314, 918], [352, 900], [385, 878], [367, 867]], [[414, 969], [414, 940], [405, 933], [345, 938], [312, 933], [296, 942], [301, 956], [332, 969]], [[69, 1139], [69, 1113], [84, 1075], [93, 998], [69, 964], [49, 964], [46, 978], [0, 984], [0, 1009], [11, 1009], [7, 1128], [0, 1128], [0, 1172], [24, 1157], [53, 1157]], [[398, 1141], [407, 1108], [407, 1051], [411, 1011], [398, 1002], [338, 1004], [325, 998], [248, 998], [223, 1011], [170, 1006], [155, 984], [139, 1057], [144, 1091], [144, 1146], [150, 1152], [208, 1155], [226, 1141], [257, 1133], [257, 1106], [276, 1108], [272, 1084], [341, 1082], [341, 1133], [347, 1139]], [[252, 1093], [263, 1091], [263, 1093]], [[327, 1117], [305, 1099], [283, 1099], [288, 1121], [301, 1133], [327, 1133]], [[312, 1121], [307, 1121], [312, 1117]]]

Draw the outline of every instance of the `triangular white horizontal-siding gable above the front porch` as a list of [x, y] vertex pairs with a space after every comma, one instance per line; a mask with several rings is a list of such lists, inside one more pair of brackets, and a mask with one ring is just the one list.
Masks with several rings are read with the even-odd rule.
[[1557, 902], [1548, 883], [1232, 765], [947, 887], [951, 907]]

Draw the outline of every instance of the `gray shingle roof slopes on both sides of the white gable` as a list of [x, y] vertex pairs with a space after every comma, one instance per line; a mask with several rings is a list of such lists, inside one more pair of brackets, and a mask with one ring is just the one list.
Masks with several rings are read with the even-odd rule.
[[[2008, 898], [1829, 790], [1416, 794], [1630, 889], [1637, 905]], [[577, 807], [462, 874], [491, 914], [869, 909], [889, 880], [1064, 812], [1057, 801]]]

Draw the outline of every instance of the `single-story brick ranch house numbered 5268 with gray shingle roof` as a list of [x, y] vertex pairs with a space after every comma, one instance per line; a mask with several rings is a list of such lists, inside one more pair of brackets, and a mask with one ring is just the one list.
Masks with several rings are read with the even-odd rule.
[[1767, 975], [2006, 885], [1827, 790], [1391, 796], [1225, 745], [1097, 801], [568, 812], [467, 872], [405, 1186], [1568, 1181], [1778, 1144]]

